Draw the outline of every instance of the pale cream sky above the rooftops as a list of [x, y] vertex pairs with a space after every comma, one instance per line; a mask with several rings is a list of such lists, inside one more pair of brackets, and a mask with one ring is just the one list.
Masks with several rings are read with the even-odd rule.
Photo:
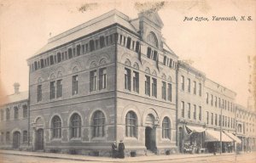
[[[164, 3], [163, 3], [164, 2]], [[237, 93], [236, 102], [247, 106], [247, 56], [256, 52], [256, 1], [91, 1], [91, 0], [0, 0], [1, 92], [28, 90], [26, 59], [54, 37], [113, 8], [131, 19], [139, 11], [156, 7], [164, 23], [162, 35], [179, 56], [189, 60], [207, 77]], [[212, 16], [238, 21], [212, 21]], [[241, 16], [253, 20], [240, 21]], [[191, 21], [183, 21], [185, 17]], [[195, 17], [209, 21], [196, 21]]]

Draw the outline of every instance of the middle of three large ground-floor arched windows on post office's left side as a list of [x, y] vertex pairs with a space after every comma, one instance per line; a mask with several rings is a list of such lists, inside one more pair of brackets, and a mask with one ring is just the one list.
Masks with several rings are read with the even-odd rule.
[[71, 138], [81, 137], [81, 117], [79, 114], [75, 113], [71, 116]]

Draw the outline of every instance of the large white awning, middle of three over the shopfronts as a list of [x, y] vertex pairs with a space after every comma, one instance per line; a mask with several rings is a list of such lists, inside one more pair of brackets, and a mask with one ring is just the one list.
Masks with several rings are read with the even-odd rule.
[[[206, 130], [205, 142], [220, 142], [220, 132], [214, 130]], [[224, 132], [222, 132], [222, 142], [233, 142]]]

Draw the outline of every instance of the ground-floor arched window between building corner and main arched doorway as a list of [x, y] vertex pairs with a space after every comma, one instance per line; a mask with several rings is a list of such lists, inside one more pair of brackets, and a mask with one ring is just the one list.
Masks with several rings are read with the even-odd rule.
[[125, 116], [125, 135], [137, 137], [137, 115], [133, 111], [129, 111]]

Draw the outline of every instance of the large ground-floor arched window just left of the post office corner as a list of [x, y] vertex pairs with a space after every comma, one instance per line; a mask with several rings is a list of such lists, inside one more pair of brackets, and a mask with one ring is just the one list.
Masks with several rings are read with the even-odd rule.
[[92, 116], [93, 137], [104, 137], [105, 116], [98, 110]]

